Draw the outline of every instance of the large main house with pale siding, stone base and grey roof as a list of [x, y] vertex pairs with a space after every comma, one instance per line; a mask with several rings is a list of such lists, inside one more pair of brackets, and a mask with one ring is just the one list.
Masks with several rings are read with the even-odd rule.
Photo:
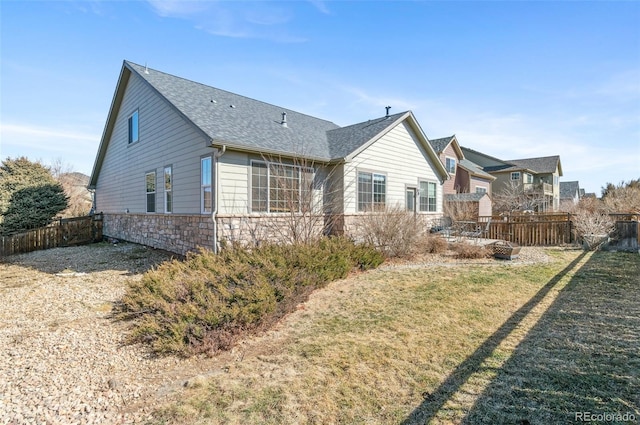
[[186, 253], [290, 233], [306, 199], [325, 232], [436, 219], [447, 178], [410, 111], [339, 127], [125, 61], [89, 187], [106, 236]]

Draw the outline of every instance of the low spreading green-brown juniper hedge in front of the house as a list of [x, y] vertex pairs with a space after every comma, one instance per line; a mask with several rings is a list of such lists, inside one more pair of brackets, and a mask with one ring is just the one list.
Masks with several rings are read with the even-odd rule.
[[212, 354], [269, 327], [314, 289], [382, 261], [374, 248], [343, 238], [202, 250], [131, 282], [116, 312], [133, 321], [129, 341], [148, 343], [156, 354]]

